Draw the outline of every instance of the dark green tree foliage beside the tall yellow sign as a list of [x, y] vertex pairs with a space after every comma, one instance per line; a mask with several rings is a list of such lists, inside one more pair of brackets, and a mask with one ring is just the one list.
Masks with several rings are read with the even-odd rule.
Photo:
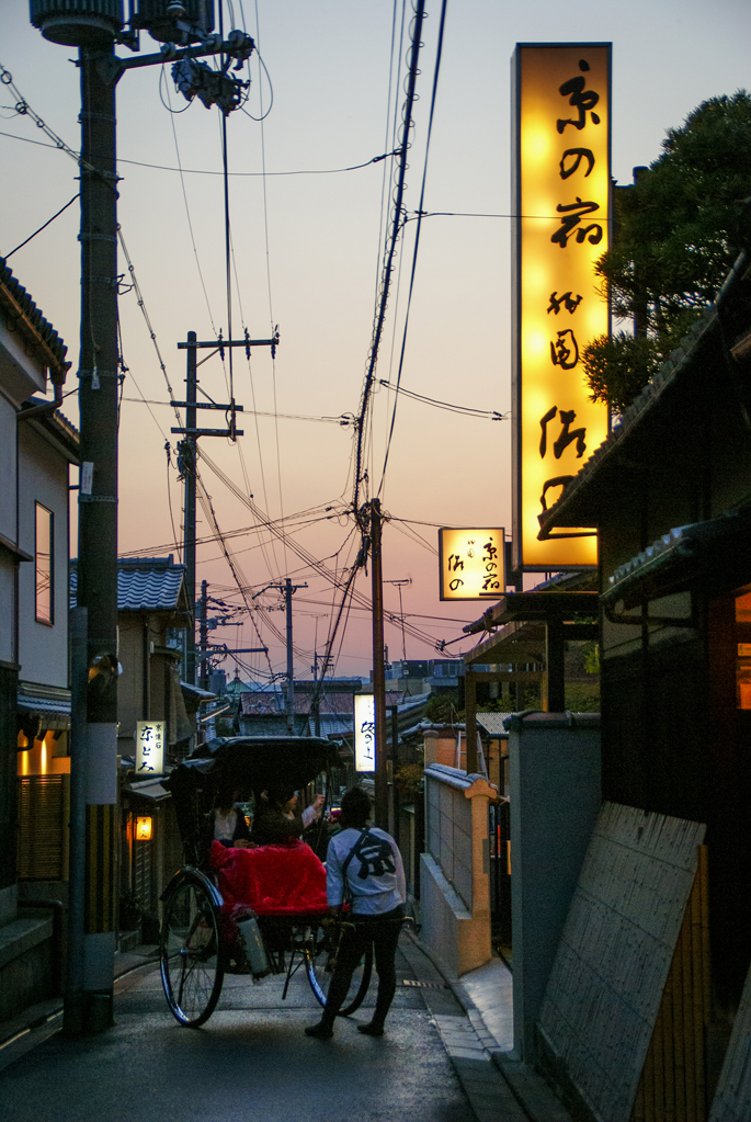
[[645, 338], [595, 340], [584, 355], [595, 399], [622, 411], [716, 296], [751, 239], [751, 95], [703, 102], [662, 155], [615, 193], [615, 227], [597, 272], [613, 313]]

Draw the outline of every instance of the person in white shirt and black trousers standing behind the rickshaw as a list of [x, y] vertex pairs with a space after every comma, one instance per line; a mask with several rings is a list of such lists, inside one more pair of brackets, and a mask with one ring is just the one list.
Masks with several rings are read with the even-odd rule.
[[401, 854], [393, 838], [378, 827], [369, 827], [370, 797], [353, 787], [342, 799], [342, 833], [328, 843], [326, 898], [334, 914], [350, 903], [353, 928], [346, 928], [336, 957], [323, 1015], [309, 1026], [308, 1037], [328, 1040], [334, 1021], [346, 997], [352, 974], [372, 945], [378, 973], [378, 996], [373, 1019], [359, 1024], [360, 1032], [383, 1036], [383, 1022], [397, 988], [396, 955], [407, 899]]

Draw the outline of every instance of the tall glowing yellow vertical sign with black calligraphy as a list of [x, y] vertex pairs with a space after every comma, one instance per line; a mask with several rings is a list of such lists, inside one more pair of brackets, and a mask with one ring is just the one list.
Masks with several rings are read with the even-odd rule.
[[610, 245], [610, 44], [519, 44], [514, 93], [513, 563], [597, 563], [594, 530], [540, 516], [608, 435], [582, 355], [610, 331], [594, 272]]

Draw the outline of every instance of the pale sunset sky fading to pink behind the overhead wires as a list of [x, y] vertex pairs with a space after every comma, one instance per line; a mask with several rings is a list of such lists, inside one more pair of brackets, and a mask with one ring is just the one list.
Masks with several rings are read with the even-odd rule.
[[[240, 425], [244, 436], [238, 445], [204, 440], [202, 448], [241, 493], [250, 490], [257, 508], [271, 519], [289, 519], [291, 543], [341, 571], [353, 563], [359, 549], [346, 515], [353, 431], [331, 419], [359, 407], [383, 247], [382, 195], [390, 191], [392, 162], [335, 169], [392, 150], [393, 99], [399, 109], [404, 100], [401, 80], [398, 89], [393, 77], [389, 85], [395, 8], [387, 0], [233, 0], [231, 7], [238, 26], [244, 7], [247, 29], [273, 86], [273, 104], [262, 125], [242, 112], [229, 119], [238, 280], [233, 327], [235, 334], [248, 327], [251, 337], [266, 338], [278, 324], [281, 342], [276, 364], [268, 349], [258, 349], [249, 369], [243, 352], [238, 352], [234, 390], [245, 411]], [[411, 212], [418, 208], [425, 162], [439, 0], [430, 0], [427, 10], [407, 175], [406, 205]], [[401, 13], [399, 3], [397, 34]], [[228, 4], [225, 25], [231, 22]], [[425, 209], [452, 213], [423, 222], [402, 371], [406, 389], [482, 411], [510, 408], [509, 64], [514, 44], [613, 43], [613, 175], [627, 183], [634, 165], [659, 156], [666, 129], [679, 126], [702, 100], [751, 85], [750, 37], [747, 0], [528, 0], [523, 6], [449, 0]], [[143, 36], [141, 49], [151, 52], [156, 45]], [[124, 47], [119, 53], [129, 54]], [[402, 76], [405, 53], [406, 44]], [[0, 6], [0, 63], [33, 109], [76, 148], [80, 92], [73, 56], [73, 48], [46, 43], [30, 26], [26, 0]], [[395, 66], [397, 61], [395, 55]], [[258, 117], [261, 104], [269, 108], [269, 84], [266, 75], [259, 81], [257, 58], [251, 74], [245, 108]], [[7, 88], [0, 90], [2, 255], [77, 190], [75, 163], [39, 146], [49, 141], [28, 117], [15, 112], [13, 100]], [[120, 82], [119, 218], [171, 387], [183, 398], [185, 352], [177, 350], [178, 340], [189, 330], [202, 339], [212, 338], [214, 328], [226, 332], [222, 177], [216, 174], [220, 118], [216, 109], [207, 111], [197, 102], [171, 116], [164, 102], [173, 109], [187, 104], [176, 93], [168, 67], [164, 74], [159, 67], [127, 73]], [[263, 158], [266, 178], [260, 174]], [[335, 174], [270, 174], [282, 172]], [[415, 222], [407, 224], [399, 246], [377, 371], [381, 379], [396, 378], [415, 228]], [[76, 386], [77, 230], [74, 204], [9, 261], [68, 346], [73, 368], [66, 389]], [[121, 261], [120, 270], [124, 267]], [[174, 467], [168, 470], [164, 450], [169, 441], [174, 453], [178, 438], [169, 429], [175, 417], [164, 404], [140, 401], [142, 396], [165, 403], [167, 388], [132, 292], [122, 295], [120, 311], [130, 375], [120, 426], [119, 551], [177, 554], [182, 485]], [[206, 362], [201, 375], [214, 399], [228, 399], [219, 358]], [[368, 443], [372, 493], [381, 484], [392, 404], [392, 393], [380, 388]], [[75, 396], [66, 401], [64, 412], [77, 423]], [[439, 656], [435, 642], [455, 640], [462, 625], [483, 610], [482, 604], [438, 600], [437, 526], [510, 530], [510, 433], [508, 420], [460, 416], [399, 399], [381, 491], [391, 516], [384, 530], [383, 569], [387, 580], [412, 581], [402, 589], [404, 608], [423, 637], [407, 634], [410, 659]], [[308, 677], [314, 642], [322, 653], [339, 594], [294, 544], [253, 528], [257, 511], [205, 462], [202, 478], [221, 530], [249, 527], [229, 541], [249, 596], [286, 576], [307, 582], [295, 597], [295, 671]], [[210, 536], [205, 521], [198, 534]], [[208, 580], [212, 595], [240, 606], [242, 597], [217, 543], [202, 545], [198, 558], [198, 580]], [[364, 574], [358, 589], [369, 595]], [[279, 596], [268, 591], [253, 603], [276, 608]], [[396, 586], [387, 585], [386, 604], [398, 611]], [[284, 646], [268, 627], [271, 623], [284, 632], [284, 615], [253, 616], [269, 645], [270, 665], [261, 655], [242, 660], [257, 668], [260, 680], [268, 680], [271, 671], [285, 668]], [[354, 606], [341, 651], [339, 642], [335, 646], [337, 674], [369, 673], [369, 626], [367, 611]], [[230, 646], [258, 645], [250, 623], [219, 629], [212, 638]], [[400, 629], [387, 625], [387, 642], [391, 657], [400, 657]], [[469, 645], [466, 640], [454, 643], [445, 656]], [[231, 659], [223, 665], [234, 673]], [[241, 677], [249, 677], [245, 669]]]

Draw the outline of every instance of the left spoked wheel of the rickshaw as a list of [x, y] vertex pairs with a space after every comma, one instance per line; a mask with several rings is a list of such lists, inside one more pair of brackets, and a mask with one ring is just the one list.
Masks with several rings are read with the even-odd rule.
[[165, 901], [159, 957], [173, 1015], [197, 1028], [214, 1012], [224, 981], [219, 912], [197, 879], [180, 880]]

